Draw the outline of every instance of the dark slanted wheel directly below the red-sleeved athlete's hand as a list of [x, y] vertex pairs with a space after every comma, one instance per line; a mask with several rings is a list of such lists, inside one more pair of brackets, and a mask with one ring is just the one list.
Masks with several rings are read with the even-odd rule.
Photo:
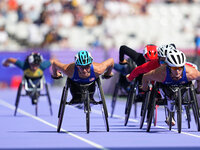
[[135, 95], [136, 95], [136, 83], [134, 83], [134, 85], [131, 87], [131, 90], [128, 93], [126, 108], [125, 108], [125, 122], [124, 122], [125, 126], [127, 125], [130, 117], [131, 108], [134, 103]]

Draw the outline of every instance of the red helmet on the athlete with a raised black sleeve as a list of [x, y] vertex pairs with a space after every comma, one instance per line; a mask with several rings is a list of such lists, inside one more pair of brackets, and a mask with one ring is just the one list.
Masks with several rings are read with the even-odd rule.
[[153, 60], [158, 58], [157, 46], [148, 44], [143, 50], [143, 56], [146, 60]]

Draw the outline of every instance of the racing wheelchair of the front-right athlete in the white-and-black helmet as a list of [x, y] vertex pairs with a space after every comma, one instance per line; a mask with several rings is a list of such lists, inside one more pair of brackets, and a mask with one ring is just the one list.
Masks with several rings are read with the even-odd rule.
[[[178, 85], [178, 86], [169, 86], [169, 85], [164, 85], [162, 83], [156, 83], [155, 86], [152, 89], [151, 96], [149, 97], [149, 105], [148, 105], [148, 113], [147, 113], [147, 132], [150, 131], [153, 116], [154, 116], [154, 111], [155, 111], [155, 106], [157, 103], [156, 100], [156, 93], [158, 90], [162, 90], [164, 92], [164, 99], [163, 102], [166, 104], [173, 104], [174, 107], [168, 107], [167, 106], [167, 111], [168, 111], [168, 117], [169, 117], [169, 130], [172, 128], [172, 117], [173, 113], [176, 112], [177, 116], [177, 128], [178, 128], [178, 133], [181, 133], [182, 129], [182, 106], [186, 106], [186, 115], [187, 115], [187, 120], [190, 121], [190, 108], [192, 108], [193, 115], [194, 115], [194, 120], [197, 126], [197, 130], [200, 131], [200, 121], [199, 121], [199, 108], [197, 104], [197, 97], [195, 93], [195, 88], [192, 82], [189, 82], [184, 85]], [[187, 95], [184, 97], [184, 95]], [[171, 95], [171, 97], [170, 97]], [[171, 100], [168, 100], [166, 97], [170, 97]]]

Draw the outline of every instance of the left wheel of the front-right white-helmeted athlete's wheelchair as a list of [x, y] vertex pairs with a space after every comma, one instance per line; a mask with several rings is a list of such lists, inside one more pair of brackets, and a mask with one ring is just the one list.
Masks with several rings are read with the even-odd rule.
[[156, 88], [152, 89], [152, 94], [150, 96], [149, 105], [148, 105], [148, 113], [147, 113], [147, 132], [150, 131], [152, 120], [154, 117], [154, 111], [156, 107]]

